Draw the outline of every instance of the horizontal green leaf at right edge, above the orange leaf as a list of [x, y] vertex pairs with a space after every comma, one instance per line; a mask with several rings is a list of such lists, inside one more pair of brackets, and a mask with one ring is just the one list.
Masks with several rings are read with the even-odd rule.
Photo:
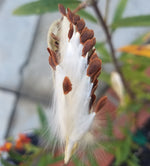
[[150, 26], [150, 15], [126, 17], [112, 23], [112, 28]]

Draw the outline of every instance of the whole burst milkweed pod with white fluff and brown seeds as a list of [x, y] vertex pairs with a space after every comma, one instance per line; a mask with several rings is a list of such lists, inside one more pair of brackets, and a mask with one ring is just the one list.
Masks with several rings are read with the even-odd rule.
[[78, 15], [59, 5], [62, 18], [48, 32], [49, 64], [53, 71], [54, 96], [50, 126], [60, 146], [65, 146], [65, 163], [72, 154], [92, 144], [97, 112], [106, 102], [95, 105], [94, 94], [101, 72], [93, 30]]

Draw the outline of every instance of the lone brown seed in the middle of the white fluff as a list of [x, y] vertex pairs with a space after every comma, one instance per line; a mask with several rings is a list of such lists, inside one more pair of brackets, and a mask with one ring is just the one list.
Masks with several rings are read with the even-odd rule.
[[66, 76], [63, 81], [63, 91], [67, 95], [72, 90], [72, 83], [70, 79]]

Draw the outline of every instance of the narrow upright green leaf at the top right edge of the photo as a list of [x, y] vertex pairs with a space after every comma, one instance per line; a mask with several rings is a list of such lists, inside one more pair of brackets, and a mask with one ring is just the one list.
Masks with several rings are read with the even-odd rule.
[[113, 22], [122, 18], [122, 15], [123, 15], [123, 12], [126, 8], [127, 2], [128, 2], [128, 0], [120, 0], [119, 1], [118, 6], [117, 6], [116, 11], [115, 11], [115, 14], [114, 14]]

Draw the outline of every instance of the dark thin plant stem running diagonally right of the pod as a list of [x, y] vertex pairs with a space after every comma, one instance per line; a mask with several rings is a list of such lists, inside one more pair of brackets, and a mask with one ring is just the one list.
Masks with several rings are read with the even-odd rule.
[[105, 32], [105, 35], [106, 35], [106, 38], [107, 38], [107, 41], [108, 41], [108, 44], [109, 44], [109, 47], [110, 47], [110, 51], [111, 51], [111, 56], [112, 56], [112, 60], [113, 60], [113, 63], [115, 65], [115, 68], [116, 68], [116, 71], [120, 74], [120, 77], [122, 79], [122, 82], [123, 82], [123, 85], [124, 85], [124, 88], [126, 89], [128, 95], [130, 96], [131, 99], [135, 99], [135, 95], [134, 93], [132, 92], [132, 90], [130, 89], [129, 85], [127, 84], [125, 78], [124, 78], [124, 75], [120, 69], [120, 66], [119, 66], [119, 63], [117, 61], [117, 58], [116, 58], [116, 55], [115, 55], [115, 50], [114, 50], [114, 46], [112, 44], [112, 39], [111, 39], [111, 34], [109, 32], [109, 29], [102, 17], [102, 14], [97, 6], [97, 1], [96, 0], [92, 0], [92, 6], [94, 8], [94, 11], [98, 17], [98, 20], [99, 22], [101, 23], [102, 25], [102, 28]]

